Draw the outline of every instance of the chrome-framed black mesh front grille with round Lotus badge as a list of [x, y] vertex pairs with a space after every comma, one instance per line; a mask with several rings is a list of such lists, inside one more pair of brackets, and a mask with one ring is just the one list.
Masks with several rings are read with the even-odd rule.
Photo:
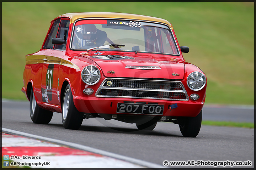
[[188, 100], [180, 81], [107, 78], [96, 97], [128, 97], [163, 100]]

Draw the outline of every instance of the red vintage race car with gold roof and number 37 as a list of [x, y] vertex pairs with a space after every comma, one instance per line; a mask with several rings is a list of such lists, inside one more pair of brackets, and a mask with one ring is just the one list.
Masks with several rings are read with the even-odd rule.
[[111, 12], [66, 13], [50, 25], [42, 48], [26, 56], [25, 93], [34, 123], [62, 113], [66, 129], [83, 119], [115, 119], [153, 130], [158, 121], [201, 128], [206, 75], [187, 63], [165, 19]]

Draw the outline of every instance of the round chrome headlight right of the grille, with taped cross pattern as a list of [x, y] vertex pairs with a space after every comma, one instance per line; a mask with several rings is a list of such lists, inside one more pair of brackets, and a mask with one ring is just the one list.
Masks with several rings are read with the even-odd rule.
[[192, 72], [188, 75], [187, 85], [191, 90], [201, 90], [206, 85], [206, 77], [201, 72]]

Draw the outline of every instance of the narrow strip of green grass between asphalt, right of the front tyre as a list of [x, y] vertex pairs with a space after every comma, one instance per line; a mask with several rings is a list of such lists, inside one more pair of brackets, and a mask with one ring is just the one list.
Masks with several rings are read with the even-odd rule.
[[228, 127], [238, 127], [238, 128], [254, 128], [254, 123], [232, 122], [232, 121], [209, 121], [209, 120], [202, 120], [202, 125], [228, 126]]

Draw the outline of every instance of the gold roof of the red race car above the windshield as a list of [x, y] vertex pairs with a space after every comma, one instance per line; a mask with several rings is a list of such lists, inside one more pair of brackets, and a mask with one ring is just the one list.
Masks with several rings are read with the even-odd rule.
[[116, 13], [116, 12], [77, 12], [77, 13], [65, 13], [60, 15], [59, 17], [69, 17], [71, 19], [70, 23], [73, 23], [76, 19], [79, 18], [120, 18], [120, 19], [138, 19], [145, 21], [154, 21], [161, 22], [171, 26], [170, 22], [165, 19], [137, 15], [137, 14], [129, 14], [129, 13]]

